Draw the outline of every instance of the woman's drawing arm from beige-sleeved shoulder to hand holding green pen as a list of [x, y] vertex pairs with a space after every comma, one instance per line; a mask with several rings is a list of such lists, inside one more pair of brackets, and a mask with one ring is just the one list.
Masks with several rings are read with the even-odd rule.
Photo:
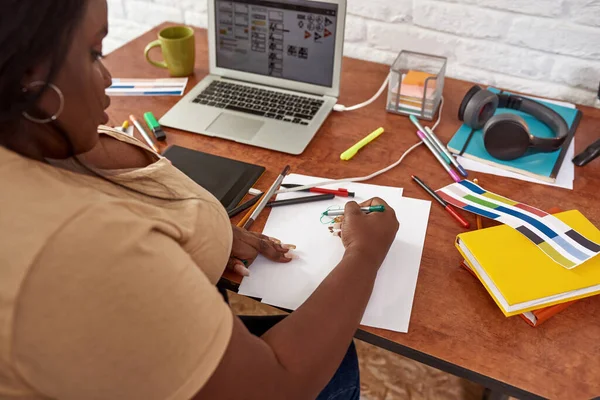
[[119, 204], [82, 210], [48, 239], [15, 300], [15, 373], [56, 399], [314, 399], [398, 226], [391, 209], [347, 211], [343, 260], [259, 338], [159, 222]]

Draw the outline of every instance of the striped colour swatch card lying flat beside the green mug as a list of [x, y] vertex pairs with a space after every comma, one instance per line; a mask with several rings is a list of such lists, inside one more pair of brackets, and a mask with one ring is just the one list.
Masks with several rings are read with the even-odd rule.
[[188, 78], [113, 79], [108, 96], [182, 96]]

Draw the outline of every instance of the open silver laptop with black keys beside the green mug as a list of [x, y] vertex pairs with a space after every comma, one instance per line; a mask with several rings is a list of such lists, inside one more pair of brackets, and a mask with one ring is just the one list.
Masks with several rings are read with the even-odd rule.
[[209, 0], [210, 72], [160, 123], [301, 154], [337, 103], [346, 0]]

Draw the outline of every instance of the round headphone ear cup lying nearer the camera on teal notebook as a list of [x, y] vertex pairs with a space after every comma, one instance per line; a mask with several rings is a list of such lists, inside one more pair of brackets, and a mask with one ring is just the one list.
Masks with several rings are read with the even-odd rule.
[[483, 127], [483, 145], [499, 160], [509, 161], [525, 154], [531, 144], [529, 127], [516, 114], [494, 115]]

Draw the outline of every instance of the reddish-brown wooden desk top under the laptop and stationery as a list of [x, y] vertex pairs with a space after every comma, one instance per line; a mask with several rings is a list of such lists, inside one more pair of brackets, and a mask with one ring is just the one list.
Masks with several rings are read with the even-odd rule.
[[[118, 78], [167, 77], [167, 72], [144, 60], [144, 46], [156, 38], [160, 26], [110, 54], [106, 65]], [[197, 30], [197, 60], [188, 90], [208, 74], [207, 35]], [[340, 102], [352, 105], [370, 98], [380, 87], [389, 68], [354, 59], [344, 59]], [[457, 110], [470, 83], [447, 79], [442, 123], [436, 131], [443, 141], [459, 127]], [[285, 164], [299, 174], [343, 178], [379, 170], [417, 142], [408, 118], [385, 112], [385, 96], [373, 105], [331, 115], [306, 151], [290, 156], [234, 142], [167, 129], [166, 144], [177, 144], [212, 154], [256, 162], [267, 167], [257, 184], [266, 189]], [[111, 124], [120, 126], [130, 113], [138, 118], [145, 111], [162, 116], [180, 97], [114, 97], [109, 109]], [[576, 152], [600, 135], [600, 110], [582, 107], [584, 117], [576, 135]], [[352, 161], [339, 160], [340, 153], [374, 128], [386, 133]], [[285, 132], [282, 132], [285, 134]], [[136, 133], [137, 135], [137, 133]], [[138, 136], [139, 137], [139, 136]], [[451, 183], [424, 147], [415, 150], [402, 165], [369, 183], [404, 188], [408, 197], [430, 200], [411, 182], [417, 173], [434, 188]], [[487, 189], [541, 209], [559, 206], [578, 209], [600, 226], [600, 161], [576, 168], [573, 191], [474, 174]], [[267, 213], [254, 229], [262, 229]], [[475, 219], [469, 216], [472, 224]], [[519, 398], [589, 399], [600, 395], [600, 299], [582, 300], [539, 328], [520, 318], [505, 318], [482, 285], [459, 268], [461, 261], [454, 238], [461, 232], [437, 204], [431, 218], [419, 274], [410, 332], [395, 333], [361, 328], [357, 337], [494, 390]], [[284, 239], [285, 238], [281, 238]]]

